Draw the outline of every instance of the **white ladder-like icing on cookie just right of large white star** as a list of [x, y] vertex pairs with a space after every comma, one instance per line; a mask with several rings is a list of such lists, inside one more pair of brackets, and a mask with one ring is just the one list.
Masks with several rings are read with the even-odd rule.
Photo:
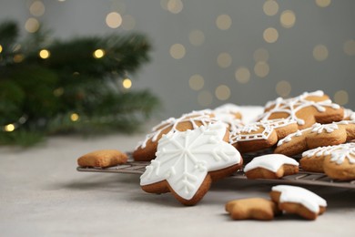
[[[296, 123], [296, 121], [279, 118], [266, 121], [259, 121], [247, 124], [241, 129], [236, 129], [231, 132], [229, 143], [236, 143], [238, 141], [249, 141], [258, 139], [269, 139], [273, 129], [288, 126], [289, 124]], [[263, 128], [260, 133], [252, 133]], [[251, 134], [250, 134], [251, 133]]]

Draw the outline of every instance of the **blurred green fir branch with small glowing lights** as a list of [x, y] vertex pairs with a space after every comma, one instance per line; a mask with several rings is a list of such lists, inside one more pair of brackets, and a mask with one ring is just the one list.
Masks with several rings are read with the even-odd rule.
[[[147, 36], [48, 40], [39, 30], [19, 42], [18, 27], [0, 24], [0, 144], [30, 146], [69, 132], [131, 132], [159, 99], [122, 86], [149, 62]], [[46, 49], [49, 57], [39, 57]], [[100, 49], [103, 57], [95, 57]]]

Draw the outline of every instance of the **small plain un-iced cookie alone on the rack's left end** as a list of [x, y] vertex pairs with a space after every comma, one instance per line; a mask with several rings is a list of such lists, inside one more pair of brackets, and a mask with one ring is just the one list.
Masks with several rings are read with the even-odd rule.
[[117, 149], [99, 149], [77, 159], [80, 167], [111, 167], [127, 162], [127, 154]]

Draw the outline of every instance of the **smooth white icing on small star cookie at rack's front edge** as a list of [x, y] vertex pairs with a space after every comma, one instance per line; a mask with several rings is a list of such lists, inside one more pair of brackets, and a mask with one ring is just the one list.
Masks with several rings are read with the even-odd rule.
[[244, 168], [244, 172], [257, 168], [264, 168], [276, 172], [285, 164], [299, 166], [299, 162], [281, 154], [269, 154], [254, 158]]

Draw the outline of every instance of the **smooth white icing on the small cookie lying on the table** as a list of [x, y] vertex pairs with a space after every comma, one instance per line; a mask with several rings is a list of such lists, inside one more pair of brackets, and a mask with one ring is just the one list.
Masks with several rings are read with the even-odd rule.
[[314, 192], [308, 191], [306, 189], [289, 186], [289, 185], [278, 185], [271, 189], [272, 191], [279, 191], [281, 193], [279, 197], [279, 202], [295, 202], [303, 205], [309, 211], [314, 213], [320, 212], [320, 206], [326, 207], [327, 201], [322, 199], [320, 196]]

